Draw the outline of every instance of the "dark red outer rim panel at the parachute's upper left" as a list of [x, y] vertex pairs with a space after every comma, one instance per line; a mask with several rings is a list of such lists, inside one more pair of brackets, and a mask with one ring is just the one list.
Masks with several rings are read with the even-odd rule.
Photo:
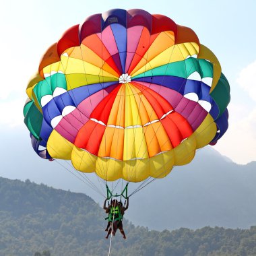
[[63, 36], [61, 36], [61, 39], [57, 42], [58, 54], [61, 56], [65, 50], [79, 45], [79, 24], [77, 24], [66, 30]]

